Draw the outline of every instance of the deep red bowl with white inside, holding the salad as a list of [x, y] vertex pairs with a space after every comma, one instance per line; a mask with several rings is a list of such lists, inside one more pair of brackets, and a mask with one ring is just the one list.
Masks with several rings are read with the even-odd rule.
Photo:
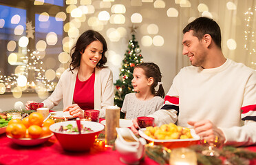
[[76, 121], [57, 122], [50, 126], [50, 130], [54, 133], [58, 142], [66, 151], [89, 151], [94, 145], [96, 135], [105, 128], [103, 124], [98, 122], [81, 121], [83, 126], [86, 126], [93, 131], [83, 134], [69, 134], [58, 131], [61, 126], [67, 126], [68, 124], [76, 126]]

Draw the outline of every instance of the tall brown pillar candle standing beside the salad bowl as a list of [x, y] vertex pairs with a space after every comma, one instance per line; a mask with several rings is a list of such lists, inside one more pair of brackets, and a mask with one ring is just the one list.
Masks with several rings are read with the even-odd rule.
[[109, 106], [106, 109], [106, 128], [105, 140], [109, 145], [116, 139], [116, 127], [119, 127], [120, 108], [116, 106]]

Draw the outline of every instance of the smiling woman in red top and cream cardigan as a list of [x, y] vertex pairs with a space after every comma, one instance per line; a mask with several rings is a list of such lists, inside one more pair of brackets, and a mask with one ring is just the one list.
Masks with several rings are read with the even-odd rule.
[[106, 51], [107, 43], [100, 33], [87, 30], [81, 34], [71, 50], [70, 69], [63, 72], [44, 106], [52, 109], [63, 99], [63, 111], [74, 117], [84, 118], [86, 109], [98, 109], [100, 117], [105, 117], [105, 108], [114, 104], [113, 75], [104, 66]]

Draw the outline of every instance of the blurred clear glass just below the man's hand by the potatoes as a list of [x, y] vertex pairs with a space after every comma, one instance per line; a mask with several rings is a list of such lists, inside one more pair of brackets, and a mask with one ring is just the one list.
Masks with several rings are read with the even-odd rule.
[[200, 143], [203, 146], [206, 146], [206, 149], [202, 151], [203, 155], [206, 156], [220, 156], [220, 153], [217, 151], [218, 148], [222, 148], [224, 140], [221, 137], [215, 136], [212, 139], [200, 138]]

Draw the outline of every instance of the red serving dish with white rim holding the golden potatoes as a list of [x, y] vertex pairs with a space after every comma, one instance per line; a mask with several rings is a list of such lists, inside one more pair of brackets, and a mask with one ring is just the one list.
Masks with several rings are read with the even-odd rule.
[[173, 140], [156, 140], [144, 133], [146, 129], [140, 129], [138, 132], [141, 137], [145, 138], [149, 142], [153, 142], [156, 145], [162, 145], [167, 148], [180, 148], [180, 147], [187, 147], [194, 144], [198, 144], [200, 142], [200, 136], [195, 134], [194, 129], [190, 129], [191, 135], [193, 138], [191, 139], [173, 139]]

